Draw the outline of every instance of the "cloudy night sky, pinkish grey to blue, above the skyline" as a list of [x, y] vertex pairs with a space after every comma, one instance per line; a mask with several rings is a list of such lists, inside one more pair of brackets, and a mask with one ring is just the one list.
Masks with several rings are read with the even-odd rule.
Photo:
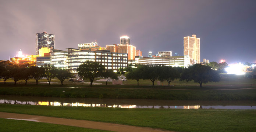
[[201, 61], [256, 63], [255, 0], [0, 0], [0, 60], [19, 49], [35, 54], [36, 33], [55, 34], [55, 48], [127, 35], [149, 51], [183, 55], [183, 37], [200, 38]]

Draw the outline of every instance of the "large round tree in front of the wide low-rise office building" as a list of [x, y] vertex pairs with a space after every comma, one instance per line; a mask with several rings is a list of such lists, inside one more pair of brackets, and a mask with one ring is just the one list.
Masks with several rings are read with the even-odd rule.
[[89, 79], [90, 85], [92, 85], [95, 77], [102, 77], [105, 68], [98, 62], [87, 60], [77, 68], [79, 77], [83, 79]]

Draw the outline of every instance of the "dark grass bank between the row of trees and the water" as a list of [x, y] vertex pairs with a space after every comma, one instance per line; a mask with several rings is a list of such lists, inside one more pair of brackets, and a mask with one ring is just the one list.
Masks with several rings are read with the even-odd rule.
[[[65, 87], [0, 87], [0, 95], [45, 96], [63, 98], [110, 98], [110, 99], [168, 99], [168, 100], [256, 100], [256, 89], [210, 90], [248, 88], [208, 86], [200, 89], [195, 86], [144, 88], [65, 88]], [[99, 86], [98, 86], [99, 87]], [[124, 86], [126, 87], [126, 86]], [[160, 89], [162, 88], [162, 89]], [[167, 87], [170, 88], [170, 87]], [[180, 90], [189, 89], [189, 90]]]

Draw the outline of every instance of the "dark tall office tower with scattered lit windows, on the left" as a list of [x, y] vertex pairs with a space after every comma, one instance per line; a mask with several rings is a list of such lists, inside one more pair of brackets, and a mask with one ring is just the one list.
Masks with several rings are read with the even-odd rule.
[[55, 48], [55, 35], [50, 33], [36, 33], [36, 55], [39, 54], [39, 49], [42, 47]]

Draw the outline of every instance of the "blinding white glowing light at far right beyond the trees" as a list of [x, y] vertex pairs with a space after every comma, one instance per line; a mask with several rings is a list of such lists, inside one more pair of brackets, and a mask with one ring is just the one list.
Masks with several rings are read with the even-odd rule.
[[228, 72], [228, 74], [243, 75], [245, 74], [243, 69], [244, 69], [244, 65], [239, 62], [236, 64], [229, 65], [225, 70]]

